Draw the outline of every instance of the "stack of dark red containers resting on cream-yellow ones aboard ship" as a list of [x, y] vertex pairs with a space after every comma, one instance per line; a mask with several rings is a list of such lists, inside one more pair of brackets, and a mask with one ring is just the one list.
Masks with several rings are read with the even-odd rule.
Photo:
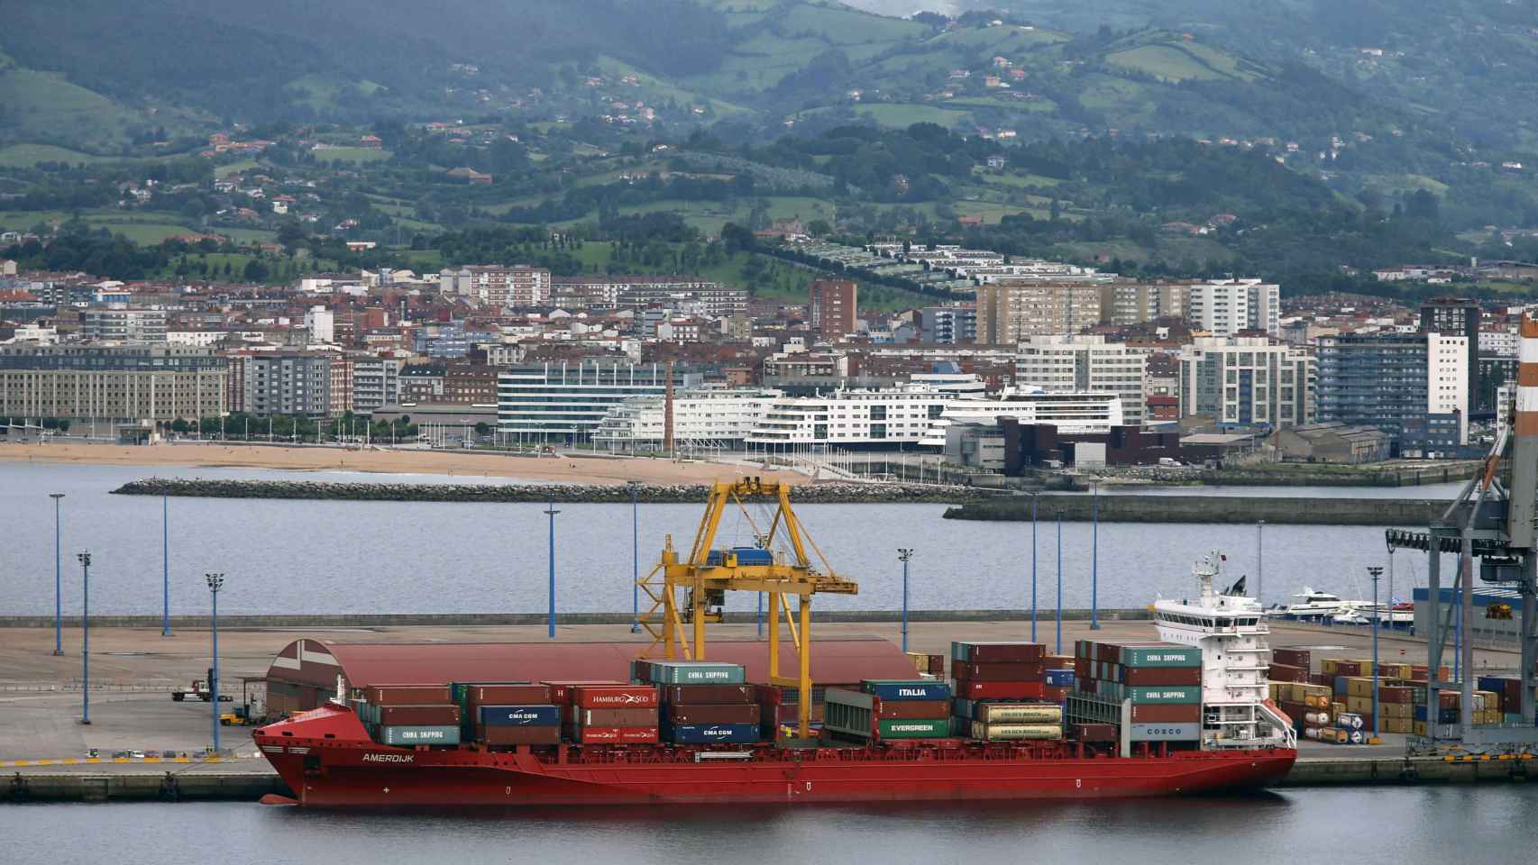
[[1061, 739], [1070, 667], [1038, 642], [952, 642], [952, 733], [981, 742]]

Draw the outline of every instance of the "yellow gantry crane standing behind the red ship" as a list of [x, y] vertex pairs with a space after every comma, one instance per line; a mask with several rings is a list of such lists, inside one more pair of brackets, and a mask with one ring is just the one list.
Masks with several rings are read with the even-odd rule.
[[[761, 530], [747, 512], [744, 499], [774, 499], [775, 510], [767, 530]], [[754, 530], [754, 547], [714, 548], [721, 515], [737, 505]], [[775, 541], [789, 544], [794, 561], [775, 556]], [[820, 568], [812, 564], [807, 550], [817, 553]], [[641, 627], [652, 636], [652, 644], [641, 653], [652, 656], [658, 647], [663, 658], [680, 656], [704, 661], [704, 625], [721, 621], [721, 607], [727, 592], [763, 592], [769, 596], [769, 684], [795, 687], [800, 693], [797, 716], [800, 736], [807, 736], [807, 721], [812, 707], [812, 595], [855, 595], [860, 587], [840, 578], [827, 564], [817, 544], [807, 538], [801, 521], [791, 507], [791, 484], [743, 478], [718, 481], [711, 486], [711, 498], [700, 518], [700, 529], [686, 559], [674, 550], [672, 535], [663, 547], [661, 562], [638, 581], [641, 592], [651, 598], [651, 607], [641, 616]], [[791, 610], [791, 598], [797, 598], [797, 610]], [[795, 647], [798, 673], [794, 678], [780, 674], [780, 615]]]

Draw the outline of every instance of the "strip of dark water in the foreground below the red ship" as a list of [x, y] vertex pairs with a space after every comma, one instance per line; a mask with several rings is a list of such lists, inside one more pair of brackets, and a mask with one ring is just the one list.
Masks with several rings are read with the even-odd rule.
[[5, 860], [57, 862], [1532, 862], [1538, 787], [844, 808], [320, 813], [234, 804], [0, 808]]

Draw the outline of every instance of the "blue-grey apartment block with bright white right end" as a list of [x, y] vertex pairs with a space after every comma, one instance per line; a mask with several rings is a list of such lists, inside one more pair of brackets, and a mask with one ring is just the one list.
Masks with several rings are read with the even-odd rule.
[[[1440, 333], [1341, 333], [1320, 340], [1320, 421], [1373, 426], [1401, 452], [1406, 430], [1456, 421], [1467, 441], [1467, 336]], [[1436, 423], [1429, 423], [1435, 419]]]

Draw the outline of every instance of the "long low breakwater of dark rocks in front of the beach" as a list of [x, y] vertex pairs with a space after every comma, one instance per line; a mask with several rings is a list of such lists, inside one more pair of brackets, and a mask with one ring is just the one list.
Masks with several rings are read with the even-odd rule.
[[[701, 504], [711, 493], [704, 484], [340, 484], [329, 481], [205, 481], [197, 478], [146, 478], [129, 481], [114, 495], [194, 496], [237, 499], [328, 499], [328, 501], [448, 501], [448, 502], [560, 502]], [[995, 495], [970, 487], [924, 484], [798, 484], [797, 504], [955, 504]]]

